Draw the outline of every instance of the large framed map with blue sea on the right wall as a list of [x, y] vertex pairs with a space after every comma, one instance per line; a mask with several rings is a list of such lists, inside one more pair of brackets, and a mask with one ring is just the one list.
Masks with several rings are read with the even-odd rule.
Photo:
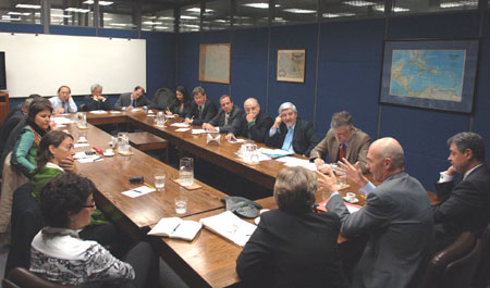
[[385, 41], [380, 102], [471, 113], [478, 45]]

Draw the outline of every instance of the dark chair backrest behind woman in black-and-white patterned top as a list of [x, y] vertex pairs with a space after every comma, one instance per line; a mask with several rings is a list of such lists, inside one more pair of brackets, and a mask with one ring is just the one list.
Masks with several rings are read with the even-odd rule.
[[[66, 288], [74, 286], [64, 286], [54, 283], [50, 283], [34, 273], [30, 273], [28, 270], [24, 267], [15, 267], [9, 272], [8, 276], [8, 285], [13, 286], [3, 286], [3, 287], [21, 287], [21, 288]], [[5, 280], [2, 283], [5, 285]]]

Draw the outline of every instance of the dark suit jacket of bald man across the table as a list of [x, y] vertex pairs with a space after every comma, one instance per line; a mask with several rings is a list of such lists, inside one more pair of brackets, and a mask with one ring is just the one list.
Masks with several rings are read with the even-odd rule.
[[245, 113], [242, 115], [240, 125], [234, 127], [231, 133], [235, 136], [249, 137], [252, 140], [262, 143], [266, 139], [266, 135], [269, 133], [269, 129], [273, 124], [272, 118], [267, 113], [260, 111], [255, 118], [255, 124], [248, 126], [246, 116], [247, 115]]

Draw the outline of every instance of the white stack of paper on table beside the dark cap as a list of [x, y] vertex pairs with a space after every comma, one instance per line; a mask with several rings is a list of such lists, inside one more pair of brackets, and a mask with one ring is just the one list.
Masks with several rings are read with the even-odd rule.
[[254, 234], [257, 226], [238, 218], [233, 212], [225, 211], [221, 214], [201, 218], [199, 221], [206, 228], [221, 235], [232, 242], [244, 247]]

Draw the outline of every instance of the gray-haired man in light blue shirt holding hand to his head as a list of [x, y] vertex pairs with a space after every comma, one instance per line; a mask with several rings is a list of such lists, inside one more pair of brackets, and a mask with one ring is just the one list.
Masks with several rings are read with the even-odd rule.
[[309, 156], [320, 141], [313, 124], [297, 117], [296, 107], [291, 102], [279, 107], [279, 116], [266, 135], [266, 145]]

